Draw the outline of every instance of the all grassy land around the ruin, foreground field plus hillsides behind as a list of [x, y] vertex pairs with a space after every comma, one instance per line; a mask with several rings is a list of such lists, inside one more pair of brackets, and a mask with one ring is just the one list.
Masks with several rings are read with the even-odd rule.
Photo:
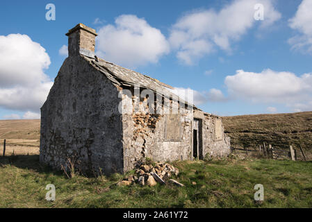
[[[312, 112], [224, 117], [232, 146], [312, 144]], [[67, 178], [39, 163], [40, 120], [0, 121], [0, 207], [312, 207], [312, 162], [245, 159], [174, 162], [185, 187], [117, 187], [124, 176]], [[13, 155], [14, 152], [14, 155]], [[307, 153], [309, 155], [309, 153]], [[133, 172], [129, 172], [131, 174]], [[45, 200], [46, 185], [56, 200]], [[262, 204], [254, 185], [264, 186]]]

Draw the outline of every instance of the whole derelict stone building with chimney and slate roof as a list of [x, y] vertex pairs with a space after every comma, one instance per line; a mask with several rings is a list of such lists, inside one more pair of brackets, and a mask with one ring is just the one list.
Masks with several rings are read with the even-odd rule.
[[68, 160], [85, 174], [124, 173], [155, 161], [225, 157], [222, 119], [172, 93], [172, 87], [95, 56], [92, 28], [66, 34], [68, 58], [41, 108], [40, 162]]

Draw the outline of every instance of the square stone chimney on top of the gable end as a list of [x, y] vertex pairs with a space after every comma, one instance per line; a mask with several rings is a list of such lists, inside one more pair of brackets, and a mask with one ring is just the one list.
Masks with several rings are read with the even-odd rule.
[[79, 23], [70, 29], [66, 34], [68, 36], [68, 56], [85, 56], [95, 57], [95, 29]]

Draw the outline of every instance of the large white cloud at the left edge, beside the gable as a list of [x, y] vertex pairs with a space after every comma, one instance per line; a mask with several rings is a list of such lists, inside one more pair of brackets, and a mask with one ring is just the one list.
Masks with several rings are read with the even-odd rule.
[[0, 107], [38, 112], [53, 85], [49, 55], [28, 35], [0, 35]]

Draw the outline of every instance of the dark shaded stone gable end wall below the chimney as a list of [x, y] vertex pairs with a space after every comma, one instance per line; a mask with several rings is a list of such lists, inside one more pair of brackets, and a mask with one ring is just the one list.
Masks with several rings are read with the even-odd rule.
[[81, 58], [65, 60], [41, 110], [40, 161], [56, 169], [71, 158], [83, 173], [123, 172], [117, 88]]

